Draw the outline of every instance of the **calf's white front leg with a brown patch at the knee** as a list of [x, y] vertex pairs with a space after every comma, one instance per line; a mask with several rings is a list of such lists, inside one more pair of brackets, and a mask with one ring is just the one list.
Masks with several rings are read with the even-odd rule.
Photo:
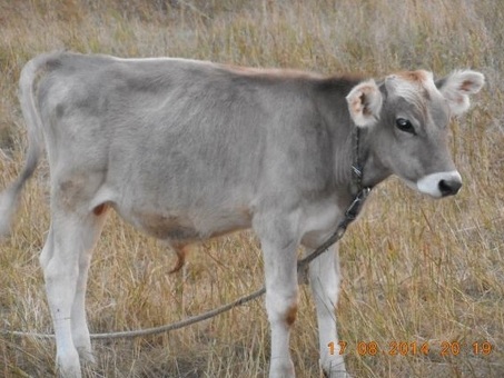
[[271, 329], [269, 377], [290, 378], [295, 376], [289, 337], [298, 306], [297, 242], [294, 239], [278, 237], [285, 229], [276, 232], [275, 228], [258, 231], [265, 260], [266, 311]]

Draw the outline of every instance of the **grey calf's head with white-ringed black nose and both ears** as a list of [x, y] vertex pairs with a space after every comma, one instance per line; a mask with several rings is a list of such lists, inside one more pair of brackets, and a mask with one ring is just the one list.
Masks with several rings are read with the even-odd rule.
[[354, 87], [346, 98], [349, 113], [368, 130], [367, 159], [379, 171], [368, 175], [394, 173], [435, 198], [456, 195], [462, 178], [448, 151], [448, 122], [468, 109], [468, 96], [483, 84], [484, 76], [471, 70], [436, 82], [432, 72], [421, 70]]

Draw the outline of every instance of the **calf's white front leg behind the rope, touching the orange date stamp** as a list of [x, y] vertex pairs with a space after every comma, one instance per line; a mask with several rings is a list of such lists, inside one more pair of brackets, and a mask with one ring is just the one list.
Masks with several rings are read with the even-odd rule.
[[339, 354], [334, 311], [339, 295], [337, 252], [338, 248], [334, 246], [309, 265], [309, 282], [317, 309], [320, 366], [326, 377], [330, 378], [347, 377], [345, 362]]

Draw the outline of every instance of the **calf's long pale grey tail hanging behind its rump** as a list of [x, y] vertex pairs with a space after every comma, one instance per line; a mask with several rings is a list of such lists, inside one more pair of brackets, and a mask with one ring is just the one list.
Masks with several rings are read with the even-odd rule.
[[[52, 54], [51, 54], [52, 56]], [[28, 151], [21, 173], [0, 192], [0, 238], [10, 231], [12, 216], [26, 181], [33, 175], [43, 148], [42, 120], [36, 103], [36, 86], [39, 72], [47, 66], [49, 54], [30, 60], [21, 71], [19, 101], [28, 130]]]

